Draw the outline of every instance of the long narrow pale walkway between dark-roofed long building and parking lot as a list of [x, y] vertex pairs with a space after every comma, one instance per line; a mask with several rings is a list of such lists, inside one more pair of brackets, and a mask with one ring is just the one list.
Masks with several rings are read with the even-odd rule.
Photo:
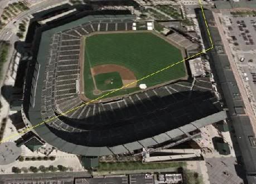
[[231, 66], [231, 69], [232, 69], [232, 71], [234, 73], [235, 80], [236, 80], [236, 83], [238, 85], [238, 89], [239, 89], [240, 94], [241, 94], [241, 98], [244, 101], [245, 113], [250, 118], [250, 122], [252, 124], [253, 131], [254, 131], [254, 133], [256, 133], [256, 124], [255, 124], [256, 118], [255, 118], [255, 115], [254, 115], [254, 112], [253, 112], [252, 105], [250, 104], [250, 102], [248, 100], [248, 96], [247, 96], [247, 93], [245, 91], [243, 81], [240, 78], [240, 74], [239, 74], [238, 68], [236, 67], [235, 60], [233, 59], [233, 56], [232, 56], [232, 53], [231, 53], [231, 50], [230, 50], [230, 47], [229, 47], [229, 43], [228, 43], [228, 41], [227, 41], [227, 39], [226, 39], [226, 37], [224, 35], [223, 25], [221, 25], [221, 23], [220, 23], [221, 14], [217, 14], [217, 13], [215, 13], [213, 11], [212, 11], [212, 13], [213, 13], [214, 18], [215, 18], [216, 26], [219, 29], [221, 40], [223, 41], [224, 49], [226, 51], [226, 55], [228, 55], [230, 66]]

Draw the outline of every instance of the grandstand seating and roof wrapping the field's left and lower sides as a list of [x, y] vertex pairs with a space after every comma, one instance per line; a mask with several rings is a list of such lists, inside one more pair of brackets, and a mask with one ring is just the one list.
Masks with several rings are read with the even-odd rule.
[[[81, 35], [132, 30], [132, 15], [85, 16], [41, 36], [27, 71], [23, 112], [43, 142], [82, 156], [134, 153], [187, 140], [226, 118], [209, 78], [178, 81], [110, 101], [94, 101], [65, 115], [79, 98]], [[35, 43], [34, 43], [35, 44]]]

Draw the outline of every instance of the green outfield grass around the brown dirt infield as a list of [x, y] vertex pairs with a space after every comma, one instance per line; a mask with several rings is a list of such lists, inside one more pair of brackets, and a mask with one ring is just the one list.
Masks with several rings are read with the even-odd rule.
[[[94, 85], [90, 74], [90, 67], [116, 64], [132, 70], [137, 79], [152, 74], [164, 67], [181, 61], [182, 54], [179, 49], [162, 38], [149, 32], [135, 33], [106, 33], [85, 38], [85, 64], [84, 83], [85, 95], [94, 99]], [[181, 62], [167, 70], [158, 72], [156, 75], [139, 81], [139, 84], [154, 86], [186, 76], [186, 69]], [[98, 84], [96, 84], [98, 86]], [[110, 96], [132, 93], [139, 88], [122, 89]], [[106, 96], [107, 98], [107, 96]]]

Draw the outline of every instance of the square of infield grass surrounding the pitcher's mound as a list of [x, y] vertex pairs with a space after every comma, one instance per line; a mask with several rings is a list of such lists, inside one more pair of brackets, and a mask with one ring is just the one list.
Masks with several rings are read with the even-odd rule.
[[94, 76], [98, 90], [106, 91], [110, 89], [118, 89], [123, 86], [122, 78], [119, 72], [109, 72]]

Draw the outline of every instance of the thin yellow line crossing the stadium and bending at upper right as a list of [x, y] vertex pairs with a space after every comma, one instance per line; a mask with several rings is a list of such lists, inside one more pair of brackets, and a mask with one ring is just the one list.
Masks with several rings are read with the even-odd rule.
[[89, 103], [92, 103], [92, 102], [95, 101], [95, 100], [102, 99], [104, 96], [107, 96], [107, 95], [109, 95], [109, 94], [115, 93], [115, 91], [119, 91], [119, 90], [121, 90], [121, 89], [123, 89], [123, 88], [125, 88], [125, 87], [127, 87], [127, 86], [129, 86], [129, 85], [132, 85], [132, 84], [134, 84], [134, 83], [137, 83], [138, 81], [141, 81], [141, 80], [143, 80], [143, 79], [147, 79], [147, 78], [149, 78], [149, 77], [151, 77], [151, 76], [153, 76], [153, 75], [158, 74], [159, 72], [161, 72], [161, 71], [163, 71], [163, 70], [169, 69], [170, 67], [173, 67], [173, 66], [175, 66], [175, 65], [177, 65], [177, 64], [180, 64], [181, 62], [184, 62], [184, 61], [186, 61], [186, 60], [188, 60], [188, 59], [191, 59], [192, 57], [195, 57], [195, 56], [197, 56], [197, 55], [200, 55], [200, 54], [202, 54], [202, 53], [204, 53], [204, 52], [207, 52], [207, 51], [213, 49], [213, 48], [214, 48], [214, 45], [213, 45], [213, 43], [212, 43], [210, 31], [209, 31], [209, 28], [208, 28], [208, 25], [207, 25], [207, 21], [206, 21], [206, 19], [205, 19], [204, 8], [202, 7], [201, 0], [199, 0], [199, 4], [200, 4], [200, 7], [201, 7], [202, 16], [204, 17], [205, 25], [206, 25], [206, 28], [207, 28], [207, 34], [209, 35], [210, 42], [211, 42], [211, 47], [210, 47], [209, 49], [202, 50], [201, 52], [199, 52], [199, 53], [197, 53], [197, 54], [195, 54], [195, 55], [193, 55], [193, 56], [187, 57], [186, 59], [183, 59], [183, 60], [181, 60], [181, 61], [176, 62], [175, 64], [172, 64], [172, 65], [167, 66], [167, 67], [165, 67], [165, 68], [163, 68], [163, 69], [161, 69], [161, 70], [158, 70], [158, 71], [156, 71], [156, 72], [153, 72], [152, 74], [149, 74], [149, 75], [147, 75], [147, 76], [144, 76], [143, 78], [138, 79], [137, 81], [134, 81], [133, 83], [129, 83], [129, 84], [125, 85], [125, 86], [122, 86], [122, 88], [119, 88], [119, 89], [116, 89], [116, 90], [114, 90], [114, 91], [111, 91], [111, 92], [109, 92], [108, 94], [99, 96], [99, 97], [96, 98], [96, 99], [93, 99], [93, 100], [90, 100], [90, 101], [88, 101], [88, 102], [86, 102], [86, 103], [83, 103], [83, 104], [81, 104], [80, 106], [77, 106], [76, 108], [67, 110], [67, 112], [65, 112], [65, 113], [62, 113], [62, 114], [59, 114], [59, 115], [57, 115], [57, 116], [55, 116], [55, 117], [53, 117], [53, 118], [47, 119], [47, 120], [45, 120], [44, 122], [38, 123], [38, 124], [36, 124], [36, 125], [34, 125], [34, 126], [32, 126], [32, 127], [28, 127], [28, 128], [26, 128], [25, 130], [23, 130], [23, 131], [20, 132], [20, 133], [12, 134], [12, 135], [10, 135], [10, 136], [7, 137], [7, 138], [2, 139], [2, 141], [0, 141], [0, 143], [6, 142], [6, 141], [8, 141], [9, 139], [11, 139], [11, 138], [13, 138], [13, 137], [17, 137], [17, 136], [20, 135], [20, 134], [26, 133], [26, 132], [28, 132], [29, 130], [34, 129], [34, 128], [40, 126], [41, 124], [51, 122], [51, 120], [54, 120], [54, 119], [56, 119], [56, 118], [58, 118], [58, 117], [60, 117], [60, 116], [62, 116], [62, 115], [66, 115], [66, 114], [68, 114], [68, 113], [70, 113], [70, 112], [73, 112], [74, 110], [79, 109], [79, 108], [81, 108], [81, 107], [83, 107], [83, 106], [85, 106], [85, 105], [87, 105], [87, 104], [89, 104]]

